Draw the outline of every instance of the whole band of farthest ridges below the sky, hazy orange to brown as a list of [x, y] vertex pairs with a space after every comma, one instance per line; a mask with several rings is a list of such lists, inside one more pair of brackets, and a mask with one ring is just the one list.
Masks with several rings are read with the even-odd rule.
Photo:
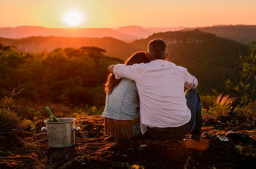
[[0, 37], [20, 39], [29, 36], [64, 36], [102, 38], [113, 37], [124, 42], [144, 39], [151, 34], [166, 31], [192, 31], [198, 29], [203, 32], [216, 34], [227, 39], [249, 44], [256, 39], [256, 25], [214, 25], [202, 28], [184, 27], [156, 27], [143, 28], [136, 25], [122, 26], [120, 28], [45, 28], [42, 26], [18, 26], [15, 28], [0, 28]]

